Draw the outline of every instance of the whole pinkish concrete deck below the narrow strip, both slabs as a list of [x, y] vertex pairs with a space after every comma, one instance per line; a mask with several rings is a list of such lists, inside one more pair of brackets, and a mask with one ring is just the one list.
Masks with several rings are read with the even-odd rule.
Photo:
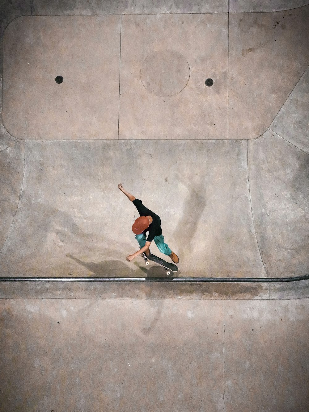
[[307, 299], [0, 300], [0, 409], [306, 411], [308, 317]]

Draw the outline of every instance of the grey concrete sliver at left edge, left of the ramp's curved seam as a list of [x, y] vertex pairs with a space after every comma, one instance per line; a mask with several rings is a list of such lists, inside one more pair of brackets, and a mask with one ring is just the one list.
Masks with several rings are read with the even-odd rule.
[[[0, 116], [2, 112], [0, 79]], [[0, 251], [12, 228], [24, 179], [25, 142], [12, 137], [0, 122]]]

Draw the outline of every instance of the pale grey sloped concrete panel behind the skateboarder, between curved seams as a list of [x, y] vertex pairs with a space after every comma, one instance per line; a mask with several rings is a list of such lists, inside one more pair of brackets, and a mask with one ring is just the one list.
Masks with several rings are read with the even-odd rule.
[[[177, 154], [177, 159], [171, 157]], [[194, 165], [194, 167], [192, 166]], [[161, 218], [179, 276], [264, 277], [245, 141], [27, 141], [23, 192], [2, 249], [7, 276], [157, 276], [118, 183]], [[167, 260], [154, 244], [153, 253]]]

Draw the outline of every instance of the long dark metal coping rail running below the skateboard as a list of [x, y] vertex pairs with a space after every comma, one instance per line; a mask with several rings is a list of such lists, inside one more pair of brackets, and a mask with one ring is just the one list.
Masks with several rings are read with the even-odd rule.
[[166, 282], [166, 283], [281, 283], [297, 282], [309, 279], [309, 274], [290, 276], [285, 278], [205, 278], [205, 277], [149, 277], [149, 278], [121, 278], [121, 277], [0, 277], [0, 282]]

